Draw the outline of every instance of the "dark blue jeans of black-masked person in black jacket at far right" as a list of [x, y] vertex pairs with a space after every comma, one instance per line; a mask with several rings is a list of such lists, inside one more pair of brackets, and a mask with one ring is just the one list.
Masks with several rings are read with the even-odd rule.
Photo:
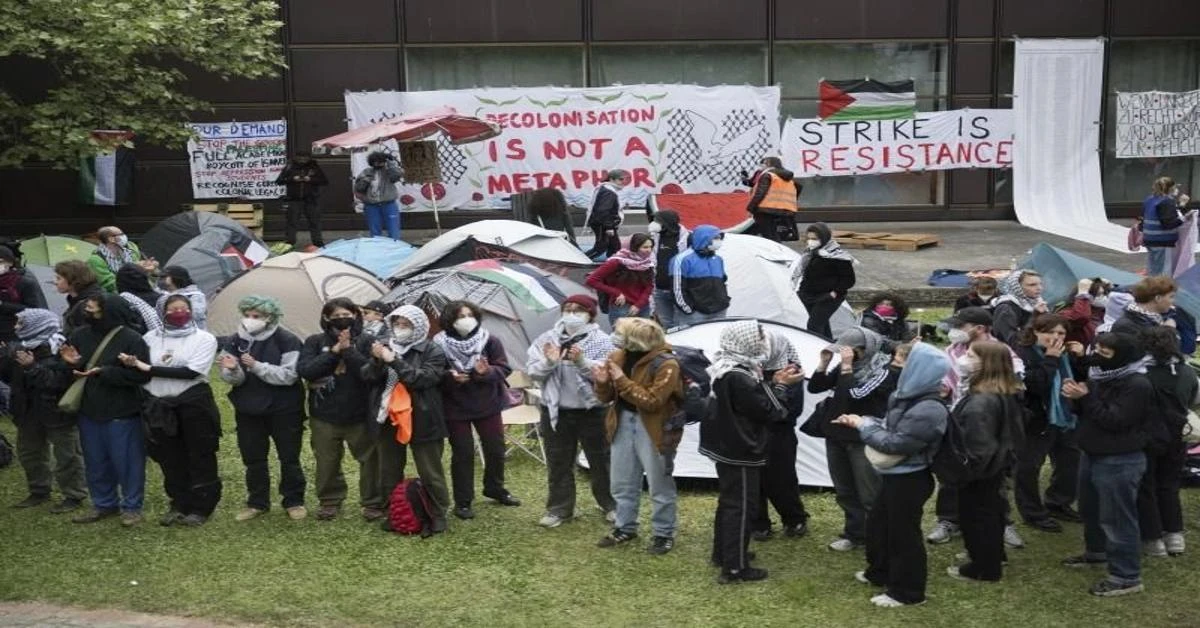
[[1091, 456], [1079, 463], [1079, 514], [1088, 557], [1105, 558], [1109, 579], [1121, 585], [1141, 582], [1141, 536], [1138, 526], [1138, 485], [1146, 472], [1146, 454]]

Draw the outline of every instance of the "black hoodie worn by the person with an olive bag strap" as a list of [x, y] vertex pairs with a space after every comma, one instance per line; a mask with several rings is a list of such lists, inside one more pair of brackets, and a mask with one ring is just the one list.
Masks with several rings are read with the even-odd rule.
[[[79, 306], [83, 312], [83, 305]], [[150, 348], [146, 347], [142, 336], [133, 331], [130, 325], [137, 319], [137, 315], [125, 303], [125, 299], [116, 294], [104, 297], [103, 311], [100, 319], [88, 319], [86, 324], [71, 333], [71, 345], [79, 349], [79, 364], [74, 366], [77, 371], [88, 370], [96, 349], [104, 336], [113, 328], [121, 327], [108, 346], [104, 347], [96, 367], [100, 373], [88, 378], [83, 391], [83, 402], [79, 406], [79, 415], [92, 420], [125, 419], [138, 417], [142, 412], [142, 384], [150, 381], [150, 373], [144, 373], [137, 369], [130, 369], [120, 363], [116, 357], [121, 353], [136, 355], [144, 363], [150, 363]]]

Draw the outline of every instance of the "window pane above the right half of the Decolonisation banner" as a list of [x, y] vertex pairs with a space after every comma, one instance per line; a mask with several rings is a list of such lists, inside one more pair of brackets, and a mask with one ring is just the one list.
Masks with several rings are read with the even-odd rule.
[[638, 83], [763, 85], [767, 47], [740, 43], [593, 46], [592, 86]]

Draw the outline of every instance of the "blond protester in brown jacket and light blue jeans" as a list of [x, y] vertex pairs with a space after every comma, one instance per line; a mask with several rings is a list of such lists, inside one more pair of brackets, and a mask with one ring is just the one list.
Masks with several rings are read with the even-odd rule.
[[671, 346], [662, 328], [653, 321], [622, 318], [612, 343], [617, 349], [592, 371], [596, 399], [612, 403], [605, 431], [612, 443], [611, 489], [617, 501], [613, 530], [598, 545], [613, 548], [637, 538], [644, 472], [654, 507], [650, 516], [654, 539], [647, 551], [662, 555], [674, 548], [678, 525], [674, 478], [667, 472], [664, 456], [673, 445], [664, 439], [664, 424], [683, 397], [679, 363], [664, 355]]

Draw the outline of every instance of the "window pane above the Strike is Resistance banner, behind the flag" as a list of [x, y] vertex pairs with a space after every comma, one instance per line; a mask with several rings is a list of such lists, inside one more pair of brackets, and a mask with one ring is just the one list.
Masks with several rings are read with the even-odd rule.
[[776, 43], [775, 83], [785, 98], [816, 98], [822, 78], [916, 82], [918, 96], [946, 95], [944, 43]]

